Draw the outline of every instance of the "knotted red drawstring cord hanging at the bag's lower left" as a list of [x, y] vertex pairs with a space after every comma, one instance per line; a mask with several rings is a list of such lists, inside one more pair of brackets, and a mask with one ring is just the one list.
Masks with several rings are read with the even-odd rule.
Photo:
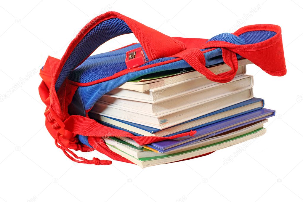
[[[58, 143], [59, 143], [60, 145], [59, 145]], [[100, 160], [100, 159], [98, 159], [98, 158], [96, 158], [96, 157], [93, 157], [92, 160], [87, 160], [87, 159], [85, 159], [85, 158], [83, 158], [83, 157], [78, 157], [74, 152], [70, 151], [67, 147], [64, 146], [64, 144], [62, 144], [62, 142], [61, 142], [61, 140], [60, 140], [58, 134], [57, 134], [56, 137], [55, 137], [55, 144], [56, 144], [56, 146], [57, 146], [58, 148], [60, 148], [60, 149], [63, 151], [63, 153], [64, 153], [70, 160], [72, 160], [72, 161], [74, 161], [74, 162], [82, 163], [82, 164], [95, 164], [95, 165], [110, 165], [110, 164], [112, 164], [112, 161]], [[70, 154], [68, 154], [67, 152], [70, 153], [70, 154], [72, 154], [73, 157], [72, 157]], [[79, 160], [77, 160], [77, 159], [80, 159], [80, 160], [82, 160], [82, 161], [79, 161]]]

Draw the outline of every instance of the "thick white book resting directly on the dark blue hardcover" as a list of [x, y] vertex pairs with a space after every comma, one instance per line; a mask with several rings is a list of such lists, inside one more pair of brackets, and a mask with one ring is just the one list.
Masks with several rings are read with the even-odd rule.
[[[215, 82], [214, 82], [215, 83]], [[185, 84], [185, 86], [187, 86]], [[99, 103], [106, 104], [108, 107], [121, 107], [129, 111], [140, 111], [142, 113], [159, 115], [170, 111], [186, 108], [193, 104], [198, 104], [208, 100], [213, 100], [225, 95], [235, 92], [243, 91], [252, 88], [253, 77], [251, 75], [242, 75], [234, 78], [228, 83], [215, 83], [206, 88], [196, 89], [195, 91], [185, 92], [185, 94], [178, 94], [164, 97], [157, 100], [142, 100], [137, 96], [136, 100], [130, 100], [127, 97], [112, 97], [102, 96], [95, 105]], [[174, 91], [174, 90], [173, 90]], [[94, 109], [93, 109], [94, 110]]]

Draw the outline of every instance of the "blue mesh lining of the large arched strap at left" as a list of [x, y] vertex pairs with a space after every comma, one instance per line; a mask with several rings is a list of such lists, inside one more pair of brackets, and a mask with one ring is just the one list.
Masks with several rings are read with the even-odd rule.
[[119, 35], [129, 33], [132, 33], [131, 29], [123, 20], [118, 18], [111, 18], [101, 22], [95, 28], [89, 31], [75, 47], [72, 54], [65, 62], [61, 74], [59, 75], [55, 84], [56, 91], [60, 88], [63, 81], [70, 74], [72, 69], [75, 68], [85, 57], [90, 55], [101, 44]]

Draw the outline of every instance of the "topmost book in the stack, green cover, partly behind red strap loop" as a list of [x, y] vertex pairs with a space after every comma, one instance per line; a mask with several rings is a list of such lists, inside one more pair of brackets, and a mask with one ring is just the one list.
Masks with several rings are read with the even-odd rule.
[[[252, 64], [248, 59], [239, 60], [238, 71], [236, 75], [245, 74], [245, 65], [248, 64]], [[220, 74], [229, 71], [230, 67], [226, 64], [221, 64], [210, 66], [208, 69], [215, 74]], [[212, 82], [198, 71], [193, 70], [193, 68], [185, 68], [148, 74], [143, 77], [137, 78], [134, 81], [128, 81], [116, 89], [127, 89], [132, 91], [145, 92], [153, 88], [161, 88], [167, 85], [172, 86], [175, 83], [191, 79], [198, 79], [200, 85], [206, 85]], [[116, 92], [117, 91], [114, 90], [108, 94], [115, 94]]]

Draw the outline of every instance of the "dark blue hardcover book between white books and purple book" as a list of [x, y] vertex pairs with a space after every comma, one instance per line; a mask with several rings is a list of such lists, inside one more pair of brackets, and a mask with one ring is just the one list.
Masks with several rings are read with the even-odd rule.
[[102, 124], [128, 131], [137, 136], [143, 135], [163, 137], [195, 130], [200, 127], [204, 127], [217, 123], [219, 121], [239, 116], [241, 114], [246, 114], [248, 112], [261, 109], [263, 107], [263, 99], [252, 98], [250, 100], [231, 105], [229, 107], [205, 114], [203, 116], [199, 116], [197, 118], [185, 121], [169, 128], [165, 128], [163, 130], [105, 116], [98, 116], [98, 118], [101, 120]]

